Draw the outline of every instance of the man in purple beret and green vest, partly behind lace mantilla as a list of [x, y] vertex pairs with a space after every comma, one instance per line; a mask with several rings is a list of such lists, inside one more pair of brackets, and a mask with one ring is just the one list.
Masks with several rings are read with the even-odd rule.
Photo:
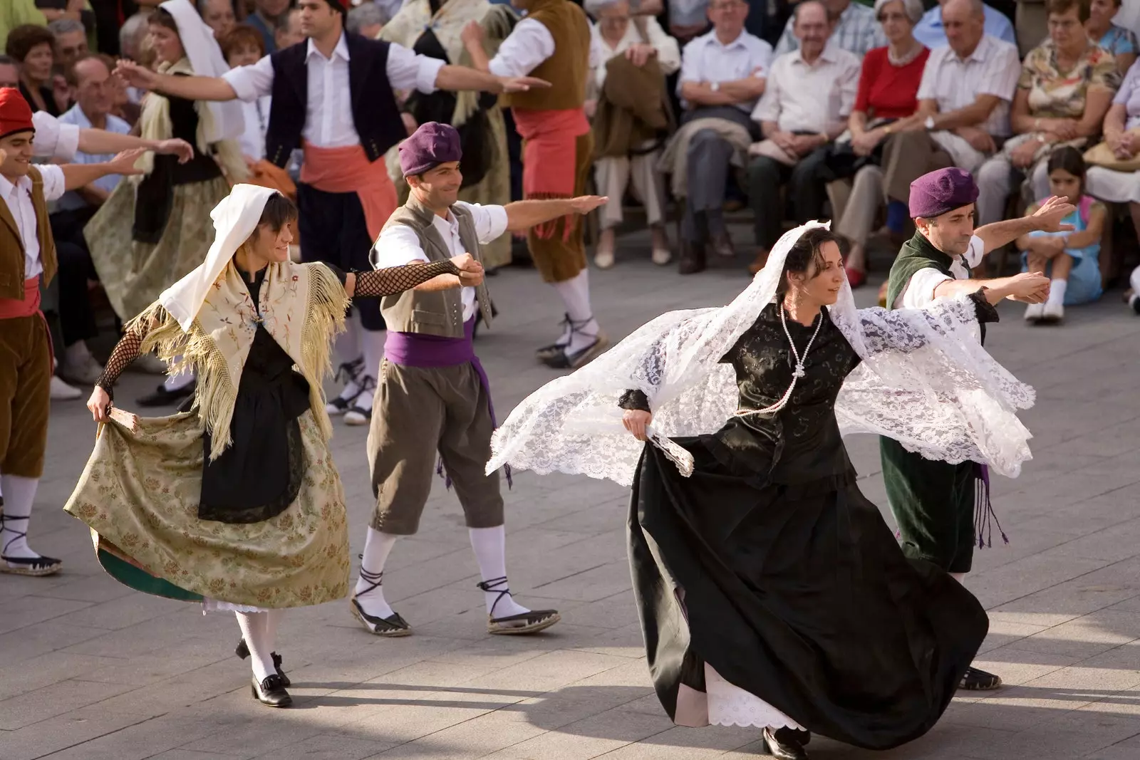
[[[975, 230], [977, 198], [974, 177], [956, 166], [939, 169], [911, 182], [910, 212], [917, 230], [903, 244], [890, 268], [888, 309], [922, 309], [935, 299], [968, 294], [991, 304], [1003, 299], [1041, 303], [1049, 296], [1049, 278], [1041, 272], [977, 279], [971, 269], [988, 252], [1027, 232], [1073, 229], [1061, 223], [1073, 206], [1053, 197], [1033, 216]], [[978, 337], [984, 340], [984, 328]], [[975, 542], [980, 546], [988, 538], [990, 521], [994, 518], [987, 468], [974, 461], [951, 465], [923, 459], [887, 438], [879, 440], [879, 452], [887, 501], [898, 524], [903, 553], [931, 562], [962, 581], [974, 559]], [[970, 668], [961, 684], [964, 689], [999, 686], [1001, 678], [977, 668]]]

